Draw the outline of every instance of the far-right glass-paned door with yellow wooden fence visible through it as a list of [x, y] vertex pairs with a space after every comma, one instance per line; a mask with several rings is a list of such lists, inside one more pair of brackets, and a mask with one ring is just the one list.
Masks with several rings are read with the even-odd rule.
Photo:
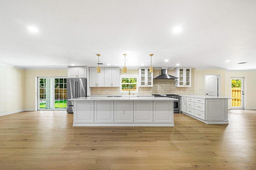
[[244, 109], [244, 77], [231, 77], [231, 97], [230, 109]]

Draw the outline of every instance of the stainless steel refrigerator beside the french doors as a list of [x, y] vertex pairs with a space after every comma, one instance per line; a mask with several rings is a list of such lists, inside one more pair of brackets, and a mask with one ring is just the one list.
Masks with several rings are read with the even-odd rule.
[[86, 78], [68, 78], [67, 79], [67, 112], [74, 112], [73, 99], [77, 97], [87, 97], [87, 79]]

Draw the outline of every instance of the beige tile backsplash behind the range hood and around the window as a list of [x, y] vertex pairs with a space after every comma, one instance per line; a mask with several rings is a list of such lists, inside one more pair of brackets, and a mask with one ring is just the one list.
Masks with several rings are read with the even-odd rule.
[[[169, 75], [175, 76], [175, 70], [168, 70]], [[123, 73], [120, 70], [120, 74], [138, 75], [138, 69], [127, 70], [127, 73]], [[154, 77], [161, 75], [161, 70], [154, 70]], [[131, 92], [132, 93], [132, 92]], [[175, 87], [174, 79], [154, 79], [153, 87], [139, 87], [138, 93], [132, 93], [134, 95], [194, 95], [194, 69], [191, 69], [191, 87]], [[120, 92], [120, 87], [91, 87], [91, 95], [128, 95], [128, 93]]]

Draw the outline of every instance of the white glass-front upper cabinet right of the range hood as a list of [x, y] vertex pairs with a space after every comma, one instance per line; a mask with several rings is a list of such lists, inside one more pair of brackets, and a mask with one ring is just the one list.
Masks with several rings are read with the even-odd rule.
[[175, 69], [175, 87], [191, 87], [191, 68], [178, 67]]

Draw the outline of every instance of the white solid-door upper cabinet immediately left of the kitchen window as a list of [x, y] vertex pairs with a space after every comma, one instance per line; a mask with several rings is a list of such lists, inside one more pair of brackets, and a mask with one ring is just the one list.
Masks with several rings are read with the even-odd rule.
[[120, 68], [105, 67], [104, 68], [105, 87], [120, 87]]

